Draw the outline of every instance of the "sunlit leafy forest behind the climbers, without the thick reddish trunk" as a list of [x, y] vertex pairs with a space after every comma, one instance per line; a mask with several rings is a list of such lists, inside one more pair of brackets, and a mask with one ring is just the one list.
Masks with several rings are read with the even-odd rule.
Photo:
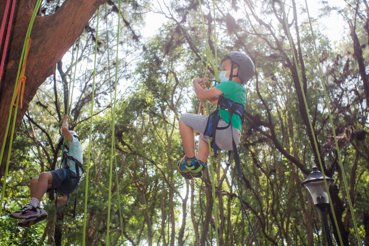
[[[100, 35], [92, 139], [88, 139], [88, 113], [95, 18], [86, 25], [86, 32], [80, 39], [80, 50], [83, 52], [79, 54], [77, 63], [69, 127], [80, 136], [85, 149], [85, 164], [87, 145], [92, 141], [87, 214], [83, 214], [83, 198], [86, 195], [84, 176], [78, 194], [71, 194], [69, 206], [58, 209], [56, 228], [62, 233], [61, 245], [82, 245], [81, 235], [85, 229], [82, 228], [83, 216], [87, 216], [88, 224], [86, 245], [104, 244], [107, 228], [110, 229], [111, 245], [195, 245], [200, 240], [204, 245], [214, 244], [210, 172], [206, 171], [202, 179], [190, 182], [186, 182], [177, 172], [177, 161], [184, 155], [177, 122], [182, 113], [197, 113], [199, 107], [191, 81], [194, 77], [203, 76], [214, 79], [211, 73], [213, 68], [204, 71], [205, 65], [200, 64], [205, 41], [199, 21], [199, 6], [196, 1], [171, 1], [169, 13], [165, 13], [170, 20], [159, 28], [154, 37], [144, 40], [138, 37], [142, 25], [141, 13], [144, 7], [151, 6], [145, 1], [124, 2], [122, 15], [126, 22], [121, 26], [120, 35], [126, 38], [122, 39], [118, 52], [125, 57], [120, 56], [118, 60], [118, 84], [113, 84], [115, 60], [111, 58], [114, 62], [107, 63], [107, 48], [110, 48], [110, 55], [115, 55], [117, 47], [113, 45], [116, 37], [113, 26], [117, 17], [114, 16], [113, 4], [117, 5], [117, 2], [108, 3], [108, 16], [101, 18], [100, 23], [105, 27], [105, 21], [108, 22], [109, 42], [106, 42], [105, 33]], [[54, 13], [58, 4], [46, 1], [42, 13]], [[232, 1], [217, 5], [218, 58], [229, 51], [245, 52], [254, 60], [257, 73], [245, 85], [247, 114], [238, 146], [245, 184], [237, 180], [233, 163], [230, 170], [225, 169], [222, 162], [227, 158], [225, 152], [214, 160], [221, 245], [253, 244], [230, 174], [236, 179], [261, 245], [323, 244], [324, 232], [319, 212], [306, 189], [300, 186], [317, 160], [314, 157], [315, 147], [306, 131], [306, 112], [300, 108], [302, 104], [298, 93], [301, 89], [288, 39], [282, 24], [276, 19], [281, 14], [278, 4], [275, 1]], [[213, 37], [212, 12], [206, 14], [211, 6], [211, 1], [203, 3], [208, 37]], [[255, 16], [251, 11], [255, 11]], [[342, 11], [348, 18], [354, 14], [349, 7]], [[364, 11], [364, 7], [361, 6], [359, 11]], [[233, 22], [227, 13], [232, 15]], [[344, 160], [344, 170], [340, 170], [308, 22], [304, 13], [296, 17], [297, 35], [295, 22], [291, 22], [292, 11], [288, 18], [293, 23], [290, 30], [298, 58], [302, 58], [298, 62], [299, 68], [304, 71], [301, 70], [301, 74], [306, 83], [309, 117], [321, 146], [326, 174], [335, 179], [333, 188], [339, 197], [336, 202], [342, 203], [342, 216], [338, 219], [345, 225], [351, 223], [347, 195], [342, 188], [342, 175], [345, 175], [350, 185], [353, 184], [354, 212], [363, 238], [368, 233], [363, 224], [363, 214], [367, 212], [369, 203], [368, 136], [365, 133], [368, 130], [368, 108], [365, 106], [358, 62], [352, 59], [351, 39], [348, 34], [346, 39], [333, 46], [319, 20], [313, 20], [323, 79]], [[359, 41], [366, 44], [365, 22], [361, 18], [357, 21]], [[211, 39], [210, 46], [213, 45]], [[363, 51], [367, 62], [368, 50]], [[15, 220], [7, 215], [28, 202], [28, 186], [33, 177], [60, 165], [56, 141], [61, 132], [60, 127], [54, 126], [65, 111], [66, 85], [70, 80], [70, 58], [67, 57], [63, 58], [61, 69], [55, 75], [55, 84], [53, 78], [48, 78], [39, 88], [17, 132], [5, 190], [4, 216], [0, 220], [0, 245], [46, 245], [50, 239], [53, 194], [44, 196], [41, 204], [49, 216], [37, 225], [17, 228]], [[365, 66], [367, 68], [367, 64]], [[109, 68], [112, 69], [110, 75]], [[118, 93], [113, 136], [117, 151], [116, 170], [115, 163], [110, 163], [110, 84], [113, 92], [117, 90]], [[212, 86], [210, 81], [207, 87]], [[110, 167], [113, 167], [113, 186], [110, 225], [107, 225]], [[118, 180], [115, 180], [115, 174]], [[72, 219], [76, 196], [77, 216]], [[348, 232], [349, 239], [355, 243], [353, 228], [349, 228]]]

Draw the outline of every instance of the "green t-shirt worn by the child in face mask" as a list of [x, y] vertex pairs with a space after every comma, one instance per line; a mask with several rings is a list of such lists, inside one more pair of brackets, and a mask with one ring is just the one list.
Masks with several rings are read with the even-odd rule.
[[[246, 90], [241, 84], [228, 80], [217, 84], [215, 88], [221, 90], [225, 98], [236, 103], [241, 103], [242, 105], [246, 104]], [[218, 115], [223, 118], [225, 122], [230, 122], [230, 115], [228, 111], [220, 108]], [[241, 118], [239, 118], [239, 116], [236, 114], [232, 115], [232, 126], [241, 131]]]

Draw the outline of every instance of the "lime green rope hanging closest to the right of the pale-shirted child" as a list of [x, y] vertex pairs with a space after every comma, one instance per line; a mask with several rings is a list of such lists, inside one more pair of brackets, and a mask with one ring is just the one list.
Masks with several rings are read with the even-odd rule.
[[95, 93], [95, 75], [96, 75], [96, 55], [97, 55], [97, 37], [99, 31], [99, 12], [100, 8], [97, 8], [97, 24], [96, 24], [96, 38], [95, 38], [95, 59], [93, 66], [93, 82], [92, 82], [92, 98], [91, 98], [91, 110], [90, 110], [90, 123], [89, 123], [89, 149], [87, 153], [87, 168], [86, 168], [86, 187], [85, 187], [85, 210], [83, 212], [83, 239], [82, 246], [86, 245], [86, 219], [87, 219], [87, 197], [89, 188], [89, 171], [90, 171], [90, 157], [91, 157], [91, 143], [92, 143], [92, 118], [93, 118], [93, 101]]

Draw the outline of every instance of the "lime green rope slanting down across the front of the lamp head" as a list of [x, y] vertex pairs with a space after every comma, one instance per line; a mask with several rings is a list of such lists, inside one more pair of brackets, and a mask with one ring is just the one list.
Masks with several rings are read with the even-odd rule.
[[334, 208], [333, 208], [331, 196], [330, 196], [330, 193], [329, 193], [329, 188], [328, 188], [328, 185], [327, 185], [327, 180], [325, 179], [325, 174], [324, 174], [324, 170], [323, 170], [323, 164], [321, 162], [320, 153], [319, 153], [318, 145], [317, 145], [317, 140], [316, 140], [315, 134], [314, 134], [314, 128], [313, 128], [313, 125], [311, 124], [310, 113], [309, 113], [309, 109], [308, 109], [308, 106], [307, 106], [306, 97], [305, 97], [305, 94], [304, 94], [304, 89], [303, 89], [303, 83], [302, 83], [302, 80], [301, 80], [300, 70], [299, 70], [299, 66], [297, 64], [295, 52], [294, 52], [294, 49], [293, 49], [294, 47], [292, 46], [292, 38], [291, 38], [290, 30], [289, 30], [289, 27], [288, 27], [286, 13], [284, 12], [284, 6], [283, 6], [282, 0], [280, 0], [280, 4], [282, 6], [283, 18], [284, 18], [284, 22], [285, 22], [287, 33], [288, 33], [288, 39], [289, 39], [290, 47], [291, 47], [291, 50], [292, 50], [292, 55], [293, 55], [294, 63], [295, 63], [295, 66], [296, 66], [297, 75], [299, 76], [300, 87], [301, 87], [302, 96], [303, 96], [303, 99], [304, 99], [304, 104], [305, 104], [305, 108], [306, 108], [307, 118], [309, 119], [311, 134], [313, 134], [315, 150], [317, 152], [317, 156], [318, 156], [320, 168], [321, 168], [321, 171], [322, 171], [322, 174], [323, 174], [325, 188], [327, 189], [327, 193], [328, 193], [329, 204], [331, 205], [331, 211], [332, 211], [333, 219], [334, 219], [335, 226], [336, 226], [336, 229], [337, 229], [337, 232], [338, 232], [337, 234], [338, 234], [339, 242], [341, 243], [341, 245], [343, 245], [342, 238], [341, 238], [341, 233], [340, 233], [339, 228], [338, 228], [336, 215], [334, 213]]

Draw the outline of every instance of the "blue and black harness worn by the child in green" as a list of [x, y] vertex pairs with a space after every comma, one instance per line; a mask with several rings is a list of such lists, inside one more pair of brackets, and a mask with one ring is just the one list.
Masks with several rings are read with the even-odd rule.
[[[226, 127], [218, 127], [218, 122], [220, 120], [220, 116], [218, 115], [219, 108], [223, 110], [228, 110], [228, 113], [230, 115], [230, 122], [228, 123]], [[238, 175], [239, 175], [239, 178], [242, 184], [244, 183], [244, 181], [242, 179], [241, 167], [239, 164], [237, 145], [233, 138], [232, 115], [233, 114], [238, 115], [241, 118], [241, 124], [244, 124], [244, 121], [245, 121], [244, 109], [245, 109], [244, 105], [240, 103], [236, 103], [228, 98], [225, 98], [224, 96], [219, 96], [217, 108], [214, 110], [214, 112], [212, 112], [209, 115], [208, 121], [205, 127], [205, 132], [204, 132], [205, 136], [212, 138], [210, 145], [211, 145], [211, 148], [214, 149], [214, 156], [218, 156], [217, 150], [222, 150], [222, 149], [220, 149], [215, 143], [215, 134], [217, 132], [217, 129], [224, 130], [224, 129], [227, 129], [228, 127], [231, 127], [234, 162], [236, 164], [237, 172], [238, 172]], [[230, 161], [230, 159], [231, 159], [231, 151], [228, 151], [228, 162]]]

